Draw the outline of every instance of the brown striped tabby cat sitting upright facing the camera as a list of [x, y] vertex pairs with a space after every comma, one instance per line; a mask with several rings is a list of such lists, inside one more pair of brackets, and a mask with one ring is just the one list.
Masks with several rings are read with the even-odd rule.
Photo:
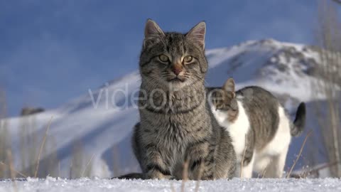
[[[205, 22], [188, 33], [165, 33], [146, 22], [139, 69], [139, 113], [133, 148], [144, 178], [212, 180], [234, 176], [229, 133], [210, 111], [204, 85]], [[134, 175], [134, 174], [133, 174]]]

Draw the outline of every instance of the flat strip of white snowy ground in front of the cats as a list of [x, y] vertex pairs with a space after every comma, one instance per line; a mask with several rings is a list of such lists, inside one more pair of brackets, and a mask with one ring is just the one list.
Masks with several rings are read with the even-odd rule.
[[[195, 191], [197, 181], [184, 182], [183, 191]], [[341, 191], [341, 180], [337, 178], [325, 179], [269, 179], [234, 178], [230, 181], [200, 181], [198, 191]], [[125, 191], [125, 192], [144, 192], [144, 191], [175, 191], [180, 192], [182, 181], [168, 180], [108, 180], [108, 179], [89, 179], [80, 178], [76, 180], [66, 180], [58, 178], [32, 179], [28, 181], [0, 181], [0, 192], [87, 192], [87, 191]]]

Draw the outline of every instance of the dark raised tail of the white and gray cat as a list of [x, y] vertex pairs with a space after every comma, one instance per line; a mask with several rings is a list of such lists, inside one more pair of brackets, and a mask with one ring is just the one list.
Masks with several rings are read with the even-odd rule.
[[299, 136], [305, 127], [305, 103], [301, 102], [297, 108], [295, 120], [291, 126], [290, 134], [293, 137]]

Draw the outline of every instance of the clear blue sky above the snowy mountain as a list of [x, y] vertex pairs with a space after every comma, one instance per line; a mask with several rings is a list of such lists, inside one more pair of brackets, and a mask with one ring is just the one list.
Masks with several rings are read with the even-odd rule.
[[205, 20], [210, 49], [263, 38], [313, 44], [316, 12], [315, 0], [4, 0], [0, 88], [11, 116], [85, 95], [137, 70], [147, 18], [180, 32]]

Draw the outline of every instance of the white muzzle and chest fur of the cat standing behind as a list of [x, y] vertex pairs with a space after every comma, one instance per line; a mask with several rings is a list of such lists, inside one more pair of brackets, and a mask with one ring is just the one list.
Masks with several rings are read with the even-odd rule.
[[239, 114], [237, 119], [230, 122], [227, 112], [221, 110], [215, 110], [215, 107], [211, 106], [212, 113], [215, 115], [217, 122], [220, 126], [224, 127], [229, 132], [232, 138], [232, 144], [234, 146], [234, 151], [237, 154], [237, 160], [241, 160], [242, 154], [245, 149], [245, 139], [250, 130], [250, 122], [247, 113], [242, 106], [242, 101], [237, 100]]

